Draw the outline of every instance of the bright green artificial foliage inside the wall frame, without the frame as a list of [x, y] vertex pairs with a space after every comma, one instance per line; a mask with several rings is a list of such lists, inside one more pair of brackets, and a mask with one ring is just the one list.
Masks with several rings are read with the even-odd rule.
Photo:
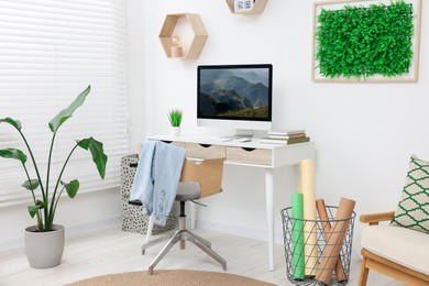
[[371, 77], [407, 74], [413, 59], [413, 7], [404, 1], [322, 10], [316, 31], [320, 74]]

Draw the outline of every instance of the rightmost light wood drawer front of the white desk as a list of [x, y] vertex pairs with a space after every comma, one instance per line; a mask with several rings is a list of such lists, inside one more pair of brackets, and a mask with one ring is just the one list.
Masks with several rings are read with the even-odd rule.
[[271, 165], [271, 150], [227, 147], [227, 161], [246, 164]]

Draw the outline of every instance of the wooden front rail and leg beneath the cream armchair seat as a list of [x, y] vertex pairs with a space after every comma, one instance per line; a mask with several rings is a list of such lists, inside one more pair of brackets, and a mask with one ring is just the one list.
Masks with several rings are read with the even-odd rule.
[[359, 275], [359, 286], [366, 285], [370, 270], [393, 277], [394, 279], [402, 280], [409, 285], [429, 285], [429, 275], [416, 272], [414, 270], [407, 268], [406, 266], [388, 261], [382, 256], [371, 253], [365, 249], [362, 249], [362, 255], [363, 260], [361, 264], [361, 273]]

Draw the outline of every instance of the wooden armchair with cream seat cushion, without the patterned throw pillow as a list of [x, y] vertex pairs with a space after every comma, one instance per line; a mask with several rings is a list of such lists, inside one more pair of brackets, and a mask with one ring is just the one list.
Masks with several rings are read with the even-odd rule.
[[380, 226], [392, 221], [395, 211], [362, 215], [369, 223], [362, 231], [362, 264], [359, 285], [366, 285], [369, 271], [408, 285], [429, 285], [429, 234], [413, 229]]

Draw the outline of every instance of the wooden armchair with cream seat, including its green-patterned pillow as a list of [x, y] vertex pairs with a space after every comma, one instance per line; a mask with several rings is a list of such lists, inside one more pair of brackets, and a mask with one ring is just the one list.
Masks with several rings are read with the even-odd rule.
[[[388, 226], [378, 222], [391, 221]], [[429, 162], [411, 155], [396, 211], [361, 216], [363, 261], [359, 285], [370, 270], [409, 285], [429, 285]]]

